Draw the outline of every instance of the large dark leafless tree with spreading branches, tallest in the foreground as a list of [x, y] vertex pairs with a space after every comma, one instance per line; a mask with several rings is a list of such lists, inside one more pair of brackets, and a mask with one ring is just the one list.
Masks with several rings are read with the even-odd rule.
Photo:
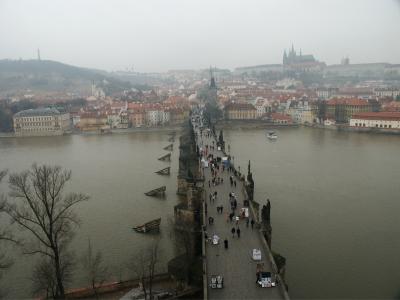
[[[60, 166], [36, 165], [9, 176], [9, 196], [5, 211], [12, 221], [32, 238], [24, 243], [25, 254], [40, 254], [48, 259], [56, 281], [56, 298], [64, 298], [64, 283], [71, 268], [67, 247], [78, 218], [75, 204], [88, 200], [77, 193], [63, 194], [71, 171]], [[12, 200], [12, 201], [11, 201]]]

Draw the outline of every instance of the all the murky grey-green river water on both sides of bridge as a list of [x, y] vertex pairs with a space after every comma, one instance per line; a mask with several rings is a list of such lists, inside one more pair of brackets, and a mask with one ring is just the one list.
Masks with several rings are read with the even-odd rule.
[[[400, 138], [311, 128], [278, 135], [270, 142], [265, 130], [224, 131], [236, 166], [245, 171], [251, 159], [255, 198], [271, 200], [272, 246], [287, 258], [291, 297], [398, 297]], [[21, 171], [33, 162], [71, 169], [70, 189], [91, 196], [76, 207], [82, 225], [72, 248], [81, 254], [90, 238], [112, 277], [129, 278], [127, 262], [152, 239], [133, 225], [161, 216], [161, 260], [173, 256], [167, 219], [177, 203], [179, 142], [171, 164], [157, 160], [168, 144], [165, 132], [0, 139], [0, 169]], [[171, 176], [154, 174], [168, 165]], [[166, 199], [143, 195], [161, 185]], [[11, 298], [27, 297], [35, 259], [15, 257], [2, 285]], [[74, 285], [84, 285], [79, 268]]]

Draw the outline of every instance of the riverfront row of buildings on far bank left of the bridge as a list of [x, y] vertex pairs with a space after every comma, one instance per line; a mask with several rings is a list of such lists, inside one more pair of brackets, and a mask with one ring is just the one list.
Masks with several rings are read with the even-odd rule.
[[178, 125], [188, 119], [189, 110], [189, 100], [176, 96], [161, 103], [93, 101], [70, 111], [56, 108], [24, 110], [14, 115], [13, 123], [17, 136], [62, 135], [72, 130], [104, 132]]

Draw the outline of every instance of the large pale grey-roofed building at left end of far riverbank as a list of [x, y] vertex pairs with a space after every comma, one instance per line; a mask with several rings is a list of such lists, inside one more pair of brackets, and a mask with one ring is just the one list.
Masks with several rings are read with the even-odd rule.
[[28, 109], [13, 117], [16, 136], [62, 135], [71, 128], [69, 113], [55, 108]]

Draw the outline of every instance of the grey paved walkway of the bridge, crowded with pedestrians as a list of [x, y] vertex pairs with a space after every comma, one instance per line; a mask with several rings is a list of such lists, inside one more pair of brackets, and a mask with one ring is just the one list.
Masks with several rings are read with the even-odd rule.
[[[212, 135], [206, 136], [205, 132], [200, 135], [197, 131], [198, 147], [205, 149], [208, 145], [208, 154], [213, 154], [214, 157], [223, 157], [222, 151], [217, 150], [216, 141]], [[210, 150], [213, 145], [214, 150]], [[252, 250], [261, 249], [262, 262], [264, 270], [271, 272], [271, 261], [267, 255], [267, 249], [264, 247], [262, 235], [256, 226], [252, 228], [251, 223], [247, 226], [245, 219], [240, 219], [238, 225], [236, 221], [229, 220], [231, 212], [231, 204], [229, 201], [229, 193], [235, 193], [237, 199], [236, 215], [243, 207], [243, 183], [236, 180], [236, 187], [230, 184], [230, 176], [234, 176], [232, 172], [219, 171], [217, 177], [223, 179], [223, 183], [216, 186], [212, 184], [211, 168], [204, 168], [204, 188], [205, 201], [207, 203], [206, 225], [208, 237], [214, 234], [218, 235], [220, 240], [218, 245], [213, 245], [212, 242], [206, 243], [206, 258], [207, 258], [207, 284], [209, 299], [285, 299], [281, 287], [261, 288], [256, 283], [256, 266], [257, 262], [252, 259]], [[210, 181], [210, 187], [209, 182]], [[217, 192], [217, 197], [214, 201], [210, 201], [209, 195]], [[217, 206], [223, 206], [223, 213], [217, 212]], [[214, 219], [212, 225], [209, 224], [209, 217]], [[250, 215], [250, 220], [254, 217]], [[232, 227], [240, 228], [240, 237], [235, 233], [232, 235]], [[224, 240], [228, 240], [228, 249], [224, 247]], [[211, 277], [213, 275], [222, 275], [224, 278], [224, 287], [222, 289], [213, 289], [210, 287]]]

